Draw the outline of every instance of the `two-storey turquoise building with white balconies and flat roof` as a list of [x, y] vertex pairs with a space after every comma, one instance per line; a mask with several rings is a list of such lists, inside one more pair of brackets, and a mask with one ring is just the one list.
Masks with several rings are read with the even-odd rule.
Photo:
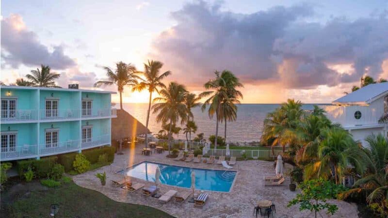
[[0, 161], [40, 158], [111, 144], [111, 94], [1, 86]]

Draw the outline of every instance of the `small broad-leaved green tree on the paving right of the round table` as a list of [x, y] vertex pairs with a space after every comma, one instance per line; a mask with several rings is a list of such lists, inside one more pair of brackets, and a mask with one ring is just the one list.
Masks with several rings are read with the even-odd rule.
[[302, 193], [297, 194], [296, 198], [292, 199], [287, 207], [300, 204], [300, 211], [314, 211], [315, 218], [317, 218], [317, 213], [323, 209], [327, 209], [327, 213], [331, 215], [338, 210], [338, 206], [328, 203], [327, 199], [337, 197], [337, 194], [343, 190], [342, 186], [323, 179], [314, 179], [303, 182], [299, 185], [299, 188], [302, 189]]

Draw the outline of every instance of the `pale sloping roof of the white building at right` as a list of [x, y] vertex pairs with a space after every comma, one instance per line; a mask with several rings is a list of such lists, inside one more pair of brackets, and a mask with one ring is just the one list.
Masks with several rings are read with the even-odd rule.
[[369, 105], [374, 100], [388, 94], [388, 82], [362, 87], [332, 102], [334, 105]]

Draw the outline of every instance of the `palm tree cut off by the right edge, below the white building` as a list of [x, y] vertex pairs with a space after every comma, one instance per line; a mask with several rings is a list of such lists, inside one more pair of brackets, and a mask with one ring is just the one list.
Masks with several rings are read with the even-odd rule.
[[364, 149], [366, 175], [357, 180], [343, 198], [366, 193], [367, 202], [382, 202], [388, 199], [388, 141], [381, 134], [368, 136], [365, 140], [369, 143], [369, 148]]

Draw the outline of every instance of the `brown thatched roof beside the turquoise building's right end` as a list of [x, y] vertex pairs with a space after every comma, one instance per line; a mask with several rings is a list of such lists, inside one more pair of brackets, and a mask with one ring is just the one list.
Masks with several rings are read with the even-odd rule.
[[150, 131], [145, 125], [127, 111], [117, 109], [117, 118], [112, 118], [112, 140], [122, 140], [146, 133], [150, 133]]

